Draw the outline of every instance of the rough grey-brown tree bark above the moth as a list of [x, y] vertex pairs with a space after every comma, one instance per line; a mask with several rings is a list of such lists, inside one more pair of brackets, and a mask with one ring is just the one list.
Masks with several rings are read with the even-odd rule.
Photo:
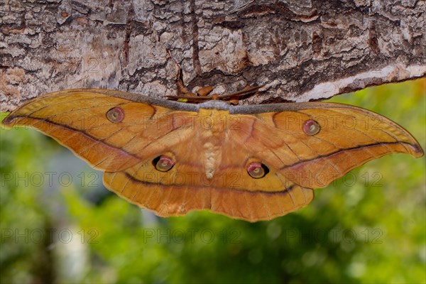
[[426, 75], [425, 1], [0, 1], [2, 111], [80, 87], [265, 84], [258, 104]]

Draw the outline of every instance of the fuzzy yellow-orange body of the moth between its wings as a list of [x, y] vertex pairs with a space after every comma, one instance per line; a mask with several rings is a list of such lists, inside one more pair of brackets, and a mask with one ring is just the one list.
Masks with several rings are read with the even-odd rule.
[[222, 146], [226, 138], [226, 121], [229, 111], [219, 109], [200, 109], [200, 135], [203, 141], [204, 173], [212, 180], [215, 170], [222, 160]]

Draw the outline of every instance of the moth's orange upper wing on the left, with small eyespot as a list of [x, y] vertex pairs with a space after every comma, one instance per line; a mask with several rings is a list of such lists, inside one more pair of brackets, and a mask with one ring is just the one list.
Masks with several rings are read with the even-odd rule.
[[[190, 138], [185, 133], [191, 129], [176, 124], [196, 113], [133, 100], [136, 94], [100, 89], [53, 92], [19, 107], [2, 124], [38, 129], [92, 167], [107, 171], [130, 168], [151, 158], [164, 143]], [[107, 119], [107, 111], [114, 107], [124, 111], [120, 122]]]

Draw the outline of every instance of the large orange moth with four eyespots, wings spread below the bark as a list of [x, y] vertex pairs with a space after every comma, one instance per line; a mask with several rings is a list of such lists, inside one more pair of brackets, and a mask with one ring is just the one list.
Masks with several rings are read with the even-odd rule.
[[185, 104], [106, 89], [45, 94], [13, 111], [104, 171], [104, 185], [162, 217], [209, 209], [249, 222], [309, 204], [314, 189], [389, 153], [423, 155], [401, 126], [324, 102]]

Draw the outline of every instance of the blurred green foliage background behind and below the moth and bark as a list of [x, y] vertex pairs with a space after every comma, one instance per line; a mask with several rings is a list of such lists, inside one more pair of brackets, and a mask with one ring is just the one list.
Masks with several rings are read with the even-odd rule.
[[[332, 102], [387, 116], [425, 149], [425, 84]], [[155, 217], [107, 195], [92, 183], [99, 173], [52, 139], [0, 134], [1, 283], [426, 283], [424, 157], [373, 160], [316, 190], [308, 207], [251, 224], [209, 212]], [[61, 186], [64, 165], [73, 182], [65, 175]]]

